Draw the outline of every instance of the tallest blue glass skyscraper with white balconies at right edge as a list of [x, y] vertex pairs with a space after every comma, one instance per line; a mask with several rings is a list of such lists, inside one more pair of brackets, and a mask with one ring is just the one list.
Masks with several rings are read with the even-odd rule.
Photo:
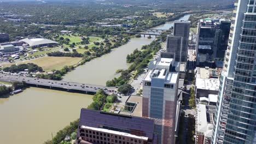
[[236, 0], [212, 143], [256, 143], [256, 5]]

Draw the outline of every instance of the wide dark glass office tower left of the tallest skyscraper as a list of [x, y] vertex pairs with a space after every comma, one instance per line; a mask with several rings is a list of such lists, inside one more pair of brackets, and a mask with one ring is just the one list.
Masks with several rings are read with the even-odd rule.
[[225, 19], [202, 19], [197, 25], [197, 67], [213, 67], [223, 61], [228, 46], [231, 21]]

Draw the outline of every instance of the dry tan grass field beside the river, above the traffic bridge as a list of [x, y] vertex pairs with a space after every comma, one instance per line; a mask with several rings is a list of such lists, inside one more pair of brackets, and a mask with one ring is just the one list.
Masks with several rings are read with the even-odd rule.
[[[34, 63], [42, 67], [45, 71], [51, 71], [53, 69], [60, 70], [65, 65], [74, 65], [81, 61], [82, 58], [80, 57], [42, 57], [37, 59], [32, 59], [30, 61], [19, 62], [18, 64], [22, 63]], [[3, 67], [9, 67], [16, 63], [5, 64]]]

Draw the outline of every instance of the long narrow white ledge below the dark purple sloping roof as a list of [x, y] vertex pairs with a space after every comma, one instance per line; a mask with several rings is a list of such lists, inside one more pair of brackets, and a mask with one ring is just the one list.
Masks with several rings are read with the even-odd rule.
[[141, 140], [146, 140], [146, 141], [148, 140], [148, 137], [132, 135], [132, 134], [129, 134], [129, 133], [123, 133], [123, 132], [115, 131], [115, 130], [108, 130], [108, 129], [94, 128], [94, 127], [87, 127], [87, 126], [85, 126], [85, 125], [81, 125], [80, 127], [83, 128], [83, 129], [101, 131], [101, 132], [103, 132], [103, 133], [109, 133], [109, 134], [115, 134], [115, 135], [133, 137], [133, 138], [135, 138], [135, 139], [141, 139]]

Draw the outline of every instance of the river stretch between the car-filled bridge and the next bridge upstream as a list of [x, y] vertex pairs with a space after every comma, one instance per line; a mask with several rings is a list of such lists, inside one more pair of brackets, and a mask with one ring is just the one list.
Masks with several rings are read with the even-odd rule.
[[129, 43], [114, 49], [108, 55], [93, 59], [66, 74], [63, 80], [105, 86], [106, 81], [118, 76], [115, 71], [129, 67], [130, 64], [126, 63], [128, 54], [135, 49], [140, 50], [143, 45], [148, 45], [152, 41], [153, 39], [144, 37], [132, 38]]

